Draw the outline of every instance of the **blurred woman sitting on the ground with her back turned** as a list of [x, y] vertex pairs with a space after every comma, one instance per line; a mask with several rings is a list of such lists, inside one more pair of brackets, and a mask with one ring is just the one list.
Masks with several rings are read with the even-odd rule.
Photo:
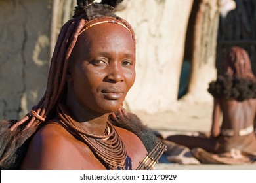
[[[249, 55], [234, 46], [222, 65], [217, 80], [209, 84], [209, 93], [214, 98], [211, 137], [172, 135], [167, 140], [215, 154], [235, 151], [255, 156], [256, 79]], [[195, 154], [200, 158], [199, 152]]]

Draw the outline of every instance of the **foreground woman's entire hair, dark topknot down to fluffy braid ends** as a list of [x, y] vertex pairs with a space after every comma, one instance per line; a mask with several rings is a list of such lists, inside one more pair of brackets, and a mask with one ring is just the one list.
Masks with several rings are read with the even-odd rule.
[[58, 35], [51, 58], [45, 94], [24, 118], [18, 121], [2, 120], [0, 123], [0, 135], [5, 134], [0, 138], [1, 169], [17, 169], [19, 167], [20, 159], [24, 157], [24, 146], [28, 144], [39, 127], [45, 124], [44, 122], [56, 117], [58, 103], [65, 102], [68, 61], [83, 27], [103, 18], [116, 20], [129, 29], [135, 45], [135, 33], [131, 25], [114, 14], [114, 9], [122, 1], [102, 0], [100, 3], [95, 3], [93, 0], [77, 0], [74, 16], [63, 25]]

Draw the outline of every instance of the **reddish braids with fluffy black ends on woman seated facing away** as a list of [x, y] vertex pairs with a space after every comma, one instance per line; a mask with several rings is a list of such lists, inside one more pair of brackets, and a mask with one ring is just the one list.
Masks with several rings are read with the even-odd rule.
[[230, 48], [223, 59], [220, 75], [209, 84], [208, 91], [217, 99], [244, 101], [256, 98], [256, 78], [246, 50], [238, 46]]

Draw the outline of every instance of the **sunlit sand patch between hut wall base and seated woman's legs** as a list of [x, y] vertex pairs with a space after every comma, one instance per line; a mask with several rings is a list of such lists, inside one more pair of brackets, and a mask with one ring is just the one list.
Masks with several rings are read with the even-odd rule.
[[146, 114], [135, 112], [140, 119], [152, 129], [161, 133], [192, 133], [200, 131], [209, 133], [211, 128], [211, 102], [192, 102], [180, 100], [176, 111], [162, 112], [159, 114]]

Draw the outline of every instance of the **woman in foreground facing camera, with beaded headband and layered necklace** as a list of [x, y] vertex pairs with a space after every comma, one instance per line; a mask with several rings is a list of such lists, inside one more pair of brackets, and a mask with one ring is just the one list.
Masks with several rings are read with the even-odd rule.
[[135, 81], [135, 34], [113, 14], [119, 3], [77, 1], [58, 36], [45, 95], [11, 132], [5, 127], [12, 143], [1, 142], [1, 167], [136, 169], [144, 144], [152, 148], [151, 131], [121, 107]]

